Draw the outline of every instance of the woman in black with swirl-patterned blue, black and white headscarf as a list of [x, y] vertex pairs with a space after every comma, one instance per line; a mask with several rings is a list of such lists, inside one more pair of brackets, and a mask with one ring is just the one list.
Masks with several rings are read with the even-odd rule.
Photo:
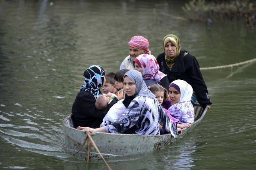
[[119, 99], [114, 98], [104, 110], [98, 110], [95, 108], [95, 102], [98, 95], [101, 94], [100, 88], [106, 81], [105, 71], [101, 66], [90, 66], [84, 71], [83, 79], [83, 86], [80, 88], [72, 106], [74, 128], [78, 126], [98, 128], [109, 108], [121, 99], [121, 95]]

